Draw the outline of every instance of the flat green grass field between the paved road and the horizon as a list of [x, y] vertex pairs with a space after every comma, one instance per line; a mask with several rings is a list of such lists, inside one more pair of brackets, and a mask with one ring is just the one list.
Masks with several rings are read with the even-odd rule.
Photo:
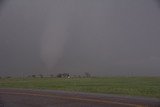
[[160, 77], [10, 78], [0, 88], [54, 89], [160, 98]]

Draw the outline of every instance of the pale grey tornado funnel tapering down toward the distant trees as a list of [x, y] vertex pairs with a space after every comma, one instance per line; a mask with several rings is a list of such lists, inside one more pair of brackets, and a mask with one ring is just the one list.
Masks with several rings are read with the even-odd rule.
[[61, 1], [50, 2], [52, 5], [47, 16], [41, 46], [42, 60], [48, 70], [54, 68], [57, 61], [63, 57], [69, 26], [69, 4], [67, 5], [66, 2]]

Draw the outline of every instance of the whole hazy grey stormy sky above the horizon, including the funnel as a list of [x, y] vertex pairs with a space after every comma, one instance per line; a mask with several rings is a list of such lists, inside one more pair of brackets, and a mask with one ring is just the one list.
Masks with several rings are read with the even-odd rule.
[[158, 0], [0, 2], [0, 76], [160, 75]]

